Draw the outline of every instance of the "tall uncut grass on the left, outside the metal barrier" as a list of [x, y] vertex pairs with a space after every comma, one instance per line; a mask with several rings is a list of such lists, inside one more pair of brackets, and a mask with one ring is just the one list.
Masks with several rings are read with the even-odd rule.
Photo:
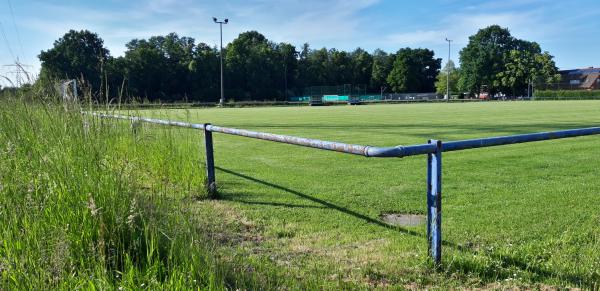
[[0, 289], [251, 286], [185, 207], [201, 135], [178, 133], [0, 101]]

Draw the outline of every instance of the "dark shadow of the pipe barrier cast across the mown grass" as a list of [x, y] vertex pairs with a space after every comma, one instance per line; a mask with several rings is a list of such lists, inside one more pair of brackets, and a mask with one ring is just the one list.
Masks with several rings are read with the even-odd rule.
[[[401, 228], [399, 226], [389, 225], [383, 221], [380, 221], [380, 220], [374, 219], [372, 217], [368, 217], [364, 214], [358, 213], [356, 211], [335, 205], [331, 202], [328, 202], [328, 201], [325, 201], [325, 200], [322, 200], [322, 199], [319, 199], [316, 197], [312, 197], [308, 194], [304, 194], [299, 191], [296, 191], [296, 190], [293, 190], [290, 188], [286, 188], [281, 185], [276, 185], [276, 184], [273, 184], [273, 183], [270, 183], [267, 181], [263, 181], [263, 180], [260, 180], [260, 179], [254, 178], [254, 177], [250, 177], [250, 176], [244, 175], [242, 173], [234, 172], [232, 170], [224, 169], [221, 167], [215, 167], [215, 168], [224, 173], [234, 175], [234, 176], [246, 179], [248, 181], [262, 184], [262, 185], [265, 185], [265, 186], [268, 186], [271, 188], [275, 188], [275, 189], [296, 195], [298, 197], [310, 200], [312, 202], [321, 204], [323, 206], [319, 207], [319, 206], [295, 205], [295, 204], [286, 204], [286, 203], [251, 202], [251, 201], [244, 201], [244, 200], [240, 201], [240, 200], [236, 200], [236, 199], [232, 199], [232, 198], [229, 198], [229, 199], [225, 198], [226, 200], [236, 201], [236, 202], [246, 203], [246, 204], [256, 204], [256, 205], [266, 205], [266, 206], [329, 208], [329, 209], [334, 209], [334, 210], [340, 211], [342, 213], [348, 214], [355, 218], [364, 220], [368, 223], [375, 224], [375, 225], [378, 225], [381, 227], [385, 227], [386, 229], [394, 229], [394, 230], [397, 230], [404, 234], [408, 234], [408, 235], [412, 235], [415, 237], [420, 237], [420, 238], [426, 239], [426, 236], [419, 232]], [[583, 276], [575, 275], [575, 274], [564, 274], [564, 273], [553, 272], [553, 271], [550, 271], [550, 270], [547, 270], [547, 269], [544, 269], [544, 268], [541, 268], [538, 266], [530, 265], [526, 261], [523, 261], [523, 260], [513, 257], [513, 256], [489, 253], [489, 252], [481, 253], [472, 247], [456, 244], [454, 242], [449, 242], [449, 241], [445, 241], [445, 240], [442, 241], [442, 245], [444, 247], [453, 248], [460, 252], [468, 253], [470, 256], [472, 256], [473, 254], [480, 254], [480, 255], [488, 256], [494, 260], [499, 261], [503, 268], [515, 267], [522, 271], [530, 272], [533, 275], [533, 279], [535, 281], [541, 281], [541, 280], [545, 280], [545, 279], [559, 279], [562, 281], [569, 282], [570, 284], [574, 284], [574, 285], [578, 285], [578, 286], [585, 286], [587, 288], [593, 289], [594, 287], [595, 288], [598, 287], [598, 283], [597, 282], [594, 283], [593, 278], [585, 278]], [[460, 260], [458, 262], [453, 261], [450, 263], [446, 263], [446, 262], [442, 261], [442, 265], [439, 266], [439, 269], [447, 270], [448, 272], [451, 272], [451, 273], [452, 272], [460, 272], [460, 273], [464, 273], [464, 274], [477, 274], [479, 277], [481, 277], [482, 279], [484, 279], [487, 282], [494, 282], [494, 281], [510, 278], [512, 275], [510, 270], [502, 270], [502, 272], [499, 273], [495, 267], [482, 267], [482, 266], [478, 266], [476, 263], [469, 262], [469, 261], [463, 261], [463, 260]]]

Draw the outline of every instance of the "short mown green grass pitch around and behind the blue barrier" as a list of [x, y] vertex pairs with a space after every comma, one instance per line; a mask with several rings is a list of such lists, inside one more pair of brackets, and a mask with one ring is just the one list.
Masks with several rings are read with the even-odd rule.
[[[138, 113], [376, 146], [600, 125], [597, 101]], [[188, 134], [202, 144], [201, 132]], [[425, 156], [364, 158], [213, 137], [217, 203], [260, 237], [240, 248], [285, 269], [292, 281], [598, 287], [600, 136], [445, 153], [437, 270], [428, 260], [425, 225], [390, 228], [379, 219], [384, 212], [426, 211]]]

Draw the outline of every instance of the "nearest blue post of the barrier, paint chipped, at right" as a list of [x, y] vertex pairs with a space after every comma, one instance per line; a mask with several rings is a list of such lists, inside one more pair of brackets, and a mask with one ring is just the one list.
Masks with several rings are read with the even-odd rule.
[[442, 259], [442, 142], [427, 155], [427, 242], [431, 258], [438, 265]]

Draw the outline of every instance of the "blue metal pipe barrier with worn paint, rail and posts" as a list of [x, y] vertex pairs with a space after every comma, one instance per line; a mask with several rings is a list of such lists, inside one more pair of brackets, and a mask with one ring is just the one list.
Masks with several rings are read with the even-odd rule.
[[426, 144], [373, 147], [340, 142], [323, 141], [318, 139], [302, 138], [289, 135], [279, 135], [265, 132], [249, 131], [237, 128], [228, 128], [212, 125], [210, 123], [198, 124], [179, 121], [169, 121], [154, 118], [134, 117], [125, 115], [110, 115], [103, 113], [86, 113], [100, 118], [125, 119], [134, 122], [148, 122], [161, 125], [186, 127], [204, 130], [206, 148], [206, 176], [207, 189], [210, 193], [216, 191], [215, 164], [213, 157], [212, 132], [220, 132], [280, 143], [287, 143], [322, 150], [360, 155], [365, 157], [390, 158], [408, 157], [414, 155], [427, 155], [427, 241], [429, 254], [436, 264], [442, 258], [442, 152], [459, 151], [481, 147], [492, 147], [516, 143], [535, 142], [551, 139], [570, 138], [578, 136], [600, 134], [600, 127], [579, 128], [552, 132], [539, 132], [498, 136], [479, 139], [467, 139], [451, 142], [429, 140]]

